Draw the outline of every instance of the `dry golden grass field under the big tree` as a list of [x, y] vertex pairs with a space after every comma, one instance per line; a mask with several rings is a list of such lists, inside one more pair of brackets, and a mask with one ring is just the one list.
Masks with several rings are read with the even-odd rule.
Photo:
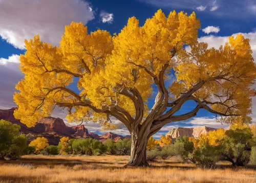
[[129, 156], [26, 155], [0, 162], [4, 182], [256, 182], [256, 168], [233, 169], [228, 164], [201, 170], [175, 158], [151, 163], [150, 168], [124, 168]]

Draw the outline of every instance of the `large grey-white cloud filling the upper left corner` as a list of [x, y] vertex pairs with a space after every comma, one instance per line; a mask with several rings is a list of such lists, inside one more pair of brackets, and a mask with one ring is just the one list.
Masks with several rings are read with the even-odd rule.
[[24, 48], [24, 39], [40, 35], [43, 41], [58, 45], [65, 25], [94, 18], [89, 3], [83, 0], [2, 0], [0, 36], [15, 48]]

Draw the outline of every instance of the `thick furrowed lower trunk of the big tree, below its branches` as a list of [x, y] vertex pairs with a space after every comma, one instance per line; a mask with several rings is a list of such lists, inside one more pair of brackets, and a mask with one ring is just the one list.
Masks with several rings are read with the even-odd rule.
[[127, 166], [147, 167], [150, 164], [146, 161], [146, 145], [148, 135], [144, 132], [141, 135], [132, 134], [132, 146], [130, 161]]

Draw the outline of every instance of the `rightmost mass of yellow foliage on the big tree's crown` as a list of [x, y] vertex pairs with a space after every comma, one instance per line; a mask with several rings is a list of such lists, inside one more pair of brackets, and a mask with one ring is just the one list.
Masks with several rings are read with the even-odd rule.
[[[191, 46], [191, 52], [180, 52], [179, 64], [175, 67], [177, 81], [169, 91], [178, 98], [195, 84], [205, 81], [194, 94], [197, 98], [211, 102], [211, 108], [219, 112], [248, 115], [251, 112], [250, 86], [256, 77], [249, 39], [238, 34], [229, 37], [224, 47], [207, 47], [207, 43], [197, 42]], [[219, 76], [225, 79], [215, 81]]]

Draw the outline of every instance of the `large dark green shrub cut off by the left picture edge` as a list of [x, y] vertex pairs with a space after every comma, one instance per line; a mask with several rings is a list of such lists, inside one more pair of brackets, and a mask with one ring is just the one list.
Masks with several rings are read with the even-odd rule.
[[19, 135], [20, 127], [9, 121], [0, 120], [0, 159], [17, 159], [27, 148], [27, 137]]

